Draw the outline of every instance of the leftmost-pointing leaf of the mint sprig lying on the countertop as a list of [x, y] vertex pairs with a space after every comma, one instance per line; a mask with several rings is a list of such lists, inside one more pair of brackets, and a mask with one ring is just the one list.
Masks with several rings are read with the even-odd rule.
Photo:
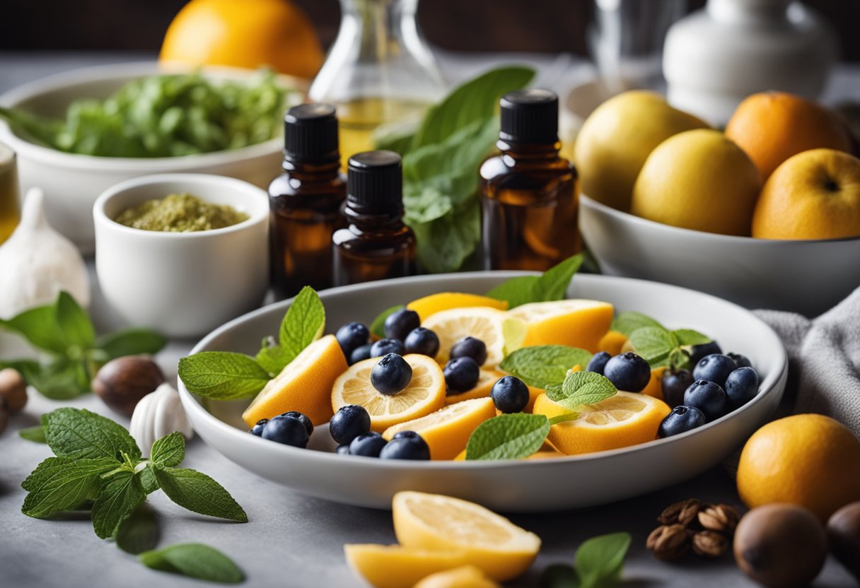
[[120, 465], [115, 459], [48, 457], [22, 481], [28, 491], [21, 511], [28, 517], [46, 518], [68, 511], [101, 486], [101, 476]]

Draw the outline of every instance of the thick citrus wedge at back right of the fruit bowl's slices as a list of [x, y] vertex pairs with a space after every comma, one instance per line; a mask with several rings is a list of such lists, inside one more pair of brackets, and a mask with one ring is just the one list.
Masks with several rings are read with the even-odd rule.
[[597, 351], [612, 322], [612, 305], [599, 300], [556, 300], [523, 304], [507, 311], [525, 322], [522, 345], [566, 345]]

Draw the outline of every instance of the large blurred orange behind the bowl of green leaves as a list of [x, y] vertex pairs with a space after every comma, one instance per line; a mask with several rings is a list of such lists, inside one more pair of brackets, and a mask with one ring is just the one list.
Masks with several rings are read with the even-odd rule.
[[323, 53], [307, 15], [289, 0], [191, 0], [164, 35], [163, 62], [230, 65], [311, 78]]

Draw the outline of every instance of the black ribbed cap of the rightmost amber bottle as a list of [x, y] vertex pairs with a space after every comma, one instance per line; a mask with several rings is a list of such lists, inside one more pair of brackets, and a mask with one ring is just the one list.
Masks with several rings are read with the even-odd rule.
[[501, 97], [502, 141], [544, 143], [558, 141], [558, 96], [545, 89], [508, 92]]

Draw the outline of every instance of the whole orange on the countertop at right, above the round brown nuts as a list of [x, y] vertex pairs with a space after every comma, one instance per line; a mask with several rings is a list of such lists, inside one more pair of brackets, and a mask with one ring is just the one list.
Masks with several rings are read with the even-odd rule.
[[774, 420], [744, 445], [737, 481], [740, 499], [750, 508], [801, 505], [825, 522], [860, 500], [860, 441], [821, 414]]

